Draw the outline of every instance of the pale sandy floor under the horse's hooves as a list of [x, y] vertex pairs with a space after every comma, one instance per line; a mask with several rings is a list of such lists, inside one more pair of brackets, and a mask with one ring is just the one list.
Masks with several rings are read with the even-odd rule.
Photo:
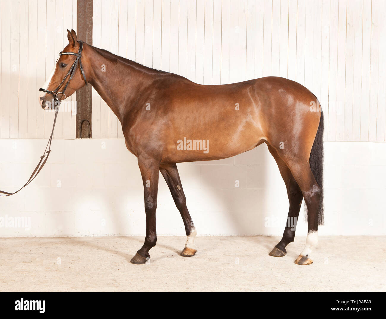
[[141, 237], [0, 238], [0, 291], [386, 291], [385, 237], [320, 237], [314, 263], [270, 257], [278, 237], [159, 236], [151, 262], [132, 265]]

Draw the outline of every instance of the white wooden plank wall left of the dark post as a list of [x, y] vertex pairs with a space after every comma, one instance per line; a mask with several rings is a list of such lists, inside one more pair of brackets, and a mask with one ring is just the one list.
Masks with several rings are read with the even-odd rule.
[[[54, 113], [39, 88], [76, 29], [76, 0], [0, 0], [0, 138], [47, 138]], [[68, 100], [76, 101], [74, 94]], [[75, 138], [75, 115], [60, 112], [55, 138]]]

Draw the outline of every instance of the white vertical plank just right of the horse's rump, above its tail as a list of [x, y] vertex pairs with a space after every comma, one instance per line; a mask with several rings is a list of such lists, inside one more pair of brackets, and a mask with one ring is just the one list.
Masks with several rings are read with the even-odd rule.
[[[289, 63], [289, 61], [288, 61]], [[324, 107], [324, 140], [328, 137], [328, 72], [330, 69], [330, 0], [322, 2], [322, 57], [320, 104]]]

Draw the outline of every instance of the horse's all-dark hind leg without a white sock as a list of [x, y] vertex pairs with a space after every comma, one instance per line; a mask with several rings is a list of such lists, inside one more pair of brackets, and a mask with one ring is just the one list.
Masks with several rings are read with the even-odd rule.
[[276, 163], [278, 164], [281, 177], [283, 177], [284, 183], [286, 185], [288, 200], [289, 200], [289, 210], [288, 218], [286, 222], [286, 227], [284, 228], [283, 237], [281, 241], [273, 248], [269, 253], [273, 257], [283, 257], [286, 255], [286, 246], [293, 242], [295, 239], [296, 223], [298, 221], [300, 205], [303, 200], [303, 194], [298, 183], [295, 181], [291, 170], [288, 168], [284, 160], [281, 159], [278, 152], [269, 144], [267, 144], [269, 152], [272, 154]]

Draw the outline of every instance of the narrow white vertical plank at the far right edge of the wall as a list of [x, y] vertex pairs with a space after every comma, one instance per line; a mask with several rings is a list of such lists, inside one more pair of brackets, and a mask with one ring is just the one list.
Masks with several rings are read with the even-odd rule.
[[[386, 3], [383, 1], [379, 3], [379, 14], [383, 17], [386, 14]], [[381, 32], [379, 34], [379, 74], [378, 74], [378, 112], [377, 112], [377, 141], [385, 141], [385, 120], [386, 120], [386, 27], [383, 21], [381, 25]]]

